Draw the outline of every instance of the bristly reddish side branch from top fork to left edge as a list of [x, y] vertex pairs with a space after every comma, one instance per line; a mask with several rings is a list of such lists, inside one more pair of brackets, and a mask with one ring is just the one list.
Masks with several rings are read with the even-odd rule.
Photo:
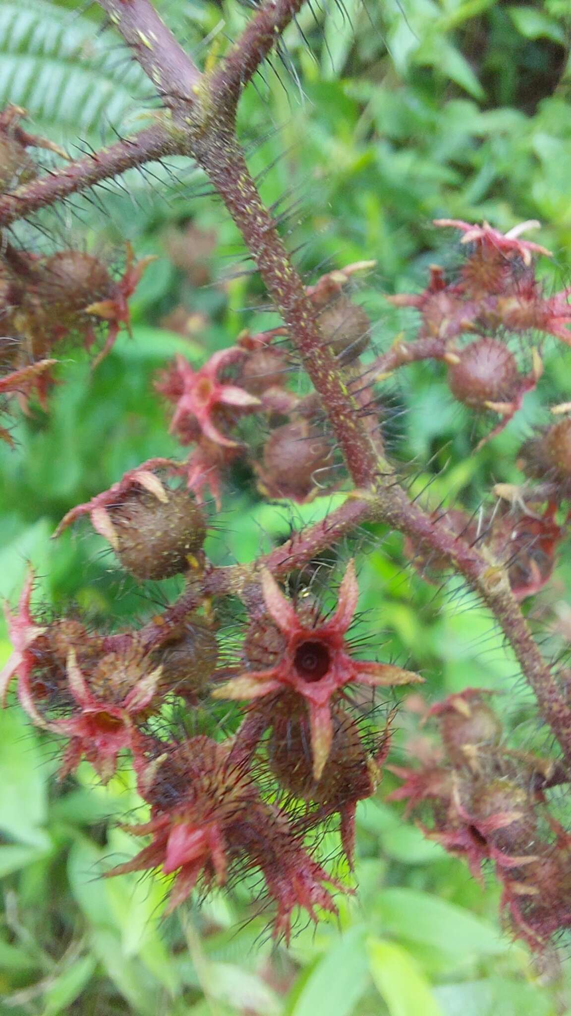
[[0, 227], [9, 226], [40, 208], [61, 201], [71, 194], [117, 177], [133, 166], [171, 155], [178, 151], [175, 136], [160, 124], [153, 124], [133, 138], [117, 141], [84, 158], [68, 163], [54, 173], [38, 177], [9, 194], [0, 195]]

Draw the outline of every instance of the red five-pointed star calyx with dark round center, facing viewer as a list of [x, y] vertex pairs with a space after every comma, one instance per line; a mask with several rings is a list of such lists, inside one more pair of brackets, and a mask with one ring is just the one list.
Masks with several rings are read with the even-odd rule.
[[267, 670], [249, 671], [216, 689], [216, 698], [259, 699], [296, 692], [305, 700], [311, 728], [313, 774], [319, 779], [333, 739], [332, 703], [348, 684], [372, 687], [422, 681], [391, 663], [357, 660], [345, 639], [359, 598], [355, 565], [350, 561], [339, 587], [337, 609], [326, 621], [308, 626], [283, 595], [269, 571], [261, 574], [269, 618], [282, 639], [277, 659]]

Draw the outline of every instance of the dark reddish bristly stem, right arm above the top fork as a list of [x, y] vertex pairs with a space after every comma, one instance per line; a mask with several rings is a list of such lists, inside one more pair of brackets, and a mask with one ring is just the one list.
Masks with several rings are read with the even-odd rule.
[[268, 0], [214, 71], [209, 93], [216, 109], [235, 107], [242, 88], [251, 80], [305, 0]]

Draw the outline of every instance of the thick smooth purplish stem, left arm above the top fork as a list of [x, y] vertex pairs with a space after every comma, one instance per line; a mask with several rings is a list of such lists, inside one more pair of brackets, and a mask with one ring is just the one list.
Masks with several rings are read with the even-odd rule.
[[188, 104], [200, 71], [148, 0], [98, 0], [148, 75], [165, 106]]

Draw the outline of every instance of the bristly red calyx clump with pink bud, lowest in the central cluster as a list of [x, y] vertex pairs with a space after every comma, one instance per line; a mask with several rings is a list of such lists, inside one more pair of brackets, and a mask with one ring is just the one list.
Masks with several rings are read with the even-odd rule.
[[287, 941], [296, 907], [313, 920], [317, 906], [335, 912], [323, 883], [336, 883], [305, 850], [286, 813], [261, 800], [249, 772], [233, 761], [231, 743], [200, 736], [156, 752], [148, 763], [137, 762], [150, 821], [128, 827], [151, 842], [108, 875], [153, 868], [175, 874], [169, 912], [200, 878], [206, 886], [224, 885], [237, 866], [260, 871], [277, 905], [273, 934]]

